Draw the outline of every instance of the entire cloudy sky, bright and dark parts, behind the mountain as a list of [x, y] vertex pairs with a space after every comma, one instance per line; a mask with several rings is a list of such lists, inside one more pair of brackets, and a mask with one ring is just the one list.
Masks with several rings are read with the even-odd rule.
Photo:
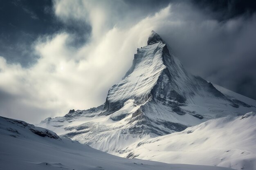
[[256, 99], [253, 0], [2, 0], [0, 115], [103, 104], [151, 30], [193, 75]]

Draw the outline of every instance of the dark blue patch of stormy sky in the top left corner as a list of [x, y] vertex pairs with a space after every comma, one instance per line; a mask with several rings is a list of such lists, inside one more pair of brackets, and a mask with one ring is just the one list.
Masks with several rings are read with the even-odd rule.
[[34, 64], [38, 56], [32, 44], [39, 36], [56, 32], [73, 34], [72, 46], [86, 42], [90, 25], [70, 20], [62, 23], [53, 11], [52, 0], [6, 0], [0, 2], [0, 56], [22, 66]]

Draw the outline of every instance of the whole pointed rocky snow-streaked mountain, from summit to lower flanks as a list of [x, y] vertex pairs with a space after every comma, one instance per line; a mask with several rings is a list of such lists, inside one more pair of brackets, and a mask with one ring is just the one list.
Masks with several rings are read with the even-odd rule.
[[[218, 89], [217, 89], [217, 88]], [[141, 138], [182, 131], [212, 118], [256, 110], [256, 101], [186, 72], [173, 51], [152, 31], [132, 67], [110, 88], [106, 102], [71, 110], [39, 126], [114, 154]]]

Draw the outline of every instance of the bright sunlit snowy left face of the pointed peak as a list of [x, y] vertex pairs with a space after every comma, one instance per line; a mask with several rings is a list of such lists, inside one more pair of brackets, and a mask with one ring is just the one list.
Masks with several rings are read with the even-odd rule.
[[137, 50], [132, 67], [124, 79], [110, 88], [106, 100], [109, 110], [121, 108], [128, 99], [142, 104], [150, 98], [150, 92], [166, 68], [163, 61], [164, 44], [159, 41]]

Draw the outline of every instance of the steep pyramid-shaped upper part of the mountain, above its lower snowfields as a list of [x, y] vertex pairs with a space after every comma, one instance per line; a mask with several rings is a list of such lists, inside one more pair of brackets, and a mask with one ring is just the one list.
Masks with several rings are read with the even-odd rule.
[[153, 100], [184, 115], [186, 111], [180, 106], [194, 104], [195, 97], [220, 98], [237, 106], [210, 82], [187, 73], [162, 38], [152, 31], [148, 45], [137, 50], [130, 70], [108, 91], [104, 109], [111, 114], [122, 108], [128, 99], [134, 99], [137, 105]]

